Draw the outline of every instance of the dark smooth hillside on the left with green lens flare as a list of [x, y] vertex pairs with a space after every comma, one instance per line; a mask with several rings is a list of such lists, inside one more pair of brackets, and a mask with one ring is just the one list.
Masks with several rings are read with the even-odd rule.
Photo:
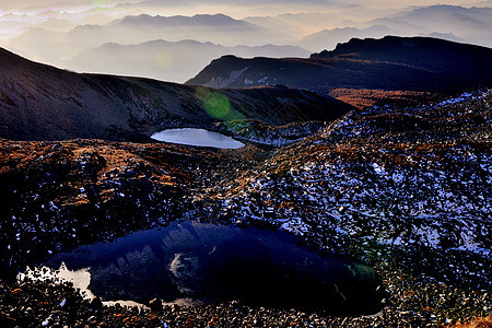
[[212, 90], [114, 75], [77, 74], [0, 50], [0, 137], [17, 140], [145, 140], [166, 127], [213, 128], [332, 120], [352, 109], [289, 87]]

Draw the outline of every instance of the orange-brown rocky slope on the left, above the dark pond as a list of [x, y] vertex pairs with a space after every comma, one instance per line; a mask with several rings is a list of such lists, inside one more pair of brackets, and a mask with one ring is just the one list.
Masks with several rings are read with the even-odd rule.
[[[213, 152], [101, 140], [0, 140], [2, 272], [180, 218]], [[198, 173], [195, 173], [198, 171]]]

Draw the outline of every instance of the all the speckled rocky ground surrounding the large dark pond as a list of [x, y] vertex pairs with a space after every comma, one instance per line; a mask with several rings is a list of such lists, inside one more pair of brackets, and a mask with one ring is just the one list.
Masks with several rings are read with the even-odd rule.
[[[491, 97], [373, 107], [282, 148], [1, 140], [0, 325], [490, 327]], [[236, 301], [107, 307], [66, 283], [14, 279], [50, 254], [184, 213], [278, 226], [370, 263], [384, 309], [353, 318]]]

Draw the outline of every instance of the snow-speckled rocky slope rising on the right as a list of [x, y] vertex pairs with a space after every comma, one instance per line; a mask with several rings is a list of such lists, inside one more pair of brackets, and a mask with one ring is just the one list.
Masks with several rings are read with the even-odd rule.
[[409, 259], [399, 265], [418, 274], [488, 290], [491, 101], [488, 91], [351, 113], [236, 178], [216, 195], [223, 215], [272, 222], [338, 251], [355, 243], [364, 258], [380, 256], [375, 245], [401, 250]]

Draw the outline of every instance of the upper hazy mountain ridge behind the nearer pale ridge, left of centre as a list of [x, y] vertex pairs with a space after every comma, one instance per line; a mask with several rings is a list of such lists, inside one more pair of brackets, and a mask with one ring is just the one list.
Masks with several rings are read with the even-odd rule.
[[142, 14], [105, 25], [79, 25], [69, 32], [33, 28], [10, 39], [9, 47], [30, 54], [31, 59], [67, 67], [67, 61], [79, 52], [106, 43], [133, 45], [156, 39], [194, 39], [224, 46], [262, 46], [286, 39], [281, 34], [223, 14], [169, 17]]

